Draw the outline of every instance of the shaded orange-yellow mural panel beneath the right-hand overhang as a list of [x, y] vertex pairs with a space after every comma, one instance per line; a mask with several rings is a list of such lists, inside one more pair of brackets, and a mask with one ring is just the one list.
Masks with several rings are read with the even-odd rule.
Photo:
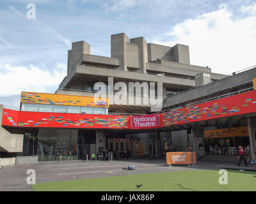
[[248, 127], [223, 128], [205, 130], [204, 138], [228, 138], [233, 136], [248, 136]]

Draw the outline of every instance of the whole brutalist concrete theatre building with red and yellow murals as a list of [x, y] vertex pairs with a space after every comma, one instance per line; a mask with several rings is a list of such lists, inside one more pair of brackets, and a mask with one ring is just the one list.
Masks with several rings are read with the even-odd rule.
[[[0, 107], [1, 157], [18, 156], [17, 163], [24, 162], [21, 156], [33, 156], [31, 162], [35, 161], [35, 155], [38, 161], [61, 156], [63, 160], [86, 159], [86, 154], [92, 159], [106, 149], [114, 159], [127, 157], [122, 152], [160, 157], [166, 150], [186, 151], [190, 145], [199, 159], [209, 152], [209, 145], [225, 144], [228, 139], [234, 146], [250, 144], [255, 159], [254, 96], [250, 104], [239, 101], [254, 94], [255, 69], [232, 76], [212, 73], [211, 68], [190, 64], [186, 45], [166, 47], [147, 43], [143, 37], [129, 39], [124, 33], [111, 36], [111, 57], [91, 55], [85, 41], [72, 43], [67, 77], [54, 94], [22, 92], [20, 111]], [[106, 85], [100, 88], [105, 97], [95, 101], [99, 82]], [[124, 103], [116, 103], [118, 82], [127, 91]], [[163, 89], [158, 89], [159, 84]], [[161, 110], [154, 110], [152, 98], [163, 101]], [[232, 101], [241, 108], [234, 108]], [[195, 112], [189, 109], [195, 106]], [[230, 110], [210, 114], [212, 106], [216, 111]], [[149, 125], [136, 128], [135, 119], [147, 120]], [[237, 134], [231, 138], [207, 138], [208, 130], [244, 126], [248, 127], [244, 137], [234, 129]]]

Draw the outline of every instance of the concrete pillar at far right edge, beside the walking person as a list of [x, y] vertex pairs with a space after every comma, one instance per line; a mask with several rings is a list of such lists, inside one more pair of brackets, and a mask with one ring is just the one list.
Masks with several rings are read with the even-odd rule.
[[250, 140], [250, 149], [252, 159], [255, 161], [255, 133], [256, 133], [256, 119], [255, 118], [247, 118], [247, 126], [248, 126], [248, 135]]

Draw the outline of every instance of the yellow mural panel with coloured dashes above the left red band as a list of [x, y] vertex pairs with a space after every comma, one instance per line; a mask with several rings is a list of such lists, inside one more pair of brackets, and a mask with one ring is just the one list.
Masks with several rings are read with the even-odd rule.
[[94, 101], [91, 96], [71, 96], [36, 92], [21, 92], [20, 103], [109, 107], [108, 98], [99, 98], [97, 101]]

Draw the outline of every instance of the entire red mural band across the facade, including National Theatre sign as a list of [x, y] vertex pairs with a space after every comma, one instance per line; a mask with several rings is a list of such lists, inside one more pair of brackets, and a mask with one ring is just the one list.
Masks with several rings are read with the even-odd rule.
[[160, 128], [252, 112], [256, 112], [256, 90], [169, 112], [132, 116], [136, 119], [132, 125], [131, 117], [124, 115], [19, 112], [5, 108], [3, 125], [45, 128]]

